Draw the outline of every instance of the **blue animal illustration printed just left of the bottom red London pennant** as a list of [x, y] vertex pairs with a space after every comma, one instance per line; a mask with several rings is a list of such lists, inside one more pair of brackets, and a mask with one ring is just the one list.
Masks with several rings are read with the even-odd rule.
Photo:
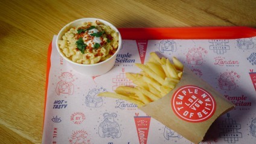
[[119, 124], [115, 121], [117, 113], [103, 113], [104, 121], [98, 127], [100, 137], [112, 137], [113, 139], [121, 137]]

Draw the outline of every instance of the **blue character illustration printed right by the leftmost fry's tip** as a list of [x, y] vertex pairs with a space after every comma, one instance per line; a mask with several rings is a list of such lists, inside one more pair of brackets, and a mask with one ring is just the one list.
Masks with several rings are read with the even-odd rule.
[[88, 94], [85, 97], [85, 104], [88, 107], [101, 107], [103, 104], [102, 97], [98, 97], [97, 95], [101, 92], [106, 91], [104, 88], [94, 88], [89, 90]]

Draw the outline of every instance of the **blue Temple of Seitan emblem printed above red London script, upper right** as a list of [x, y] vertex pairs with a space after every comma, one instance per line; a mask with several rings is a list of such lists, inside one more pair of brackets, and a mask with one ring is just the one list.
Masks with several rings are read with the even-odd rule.
[[209, 43], [211, 43], [211, 46], [209, 47], [210, 50], [213, 50], [213, 52], [217, 54], [224, 54], [227, 50], [230, 50], [227, 45], [229, 43], [228, 40], [209, 40]]

